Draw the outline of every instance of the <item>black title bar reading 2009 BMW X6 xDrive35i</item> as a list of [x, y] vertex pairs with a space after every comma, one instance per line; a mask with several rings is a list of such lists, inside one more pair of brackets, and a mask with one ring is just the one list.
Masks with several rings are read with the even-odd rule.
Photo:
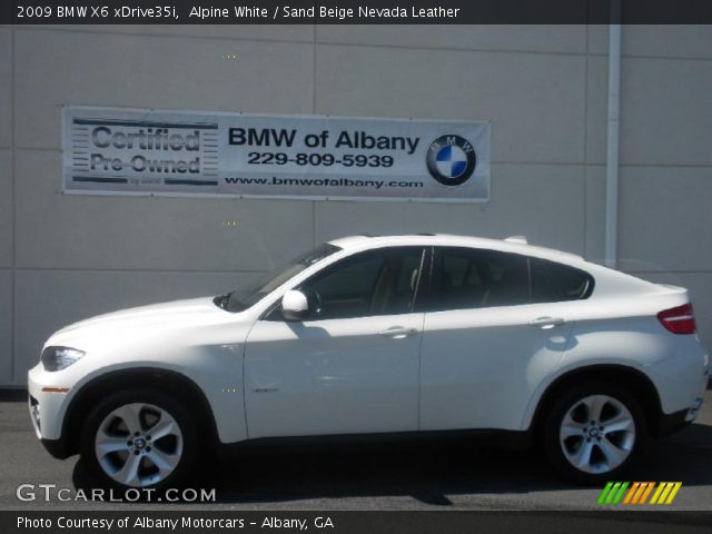
[[[150, 16], [158, 4], [175, 8]], [[60, 17], [58, 7], [86, 7]], [[263, 14], [236, 17], [235, 7], [263, 8]], [[309, 9], [285, 17], [285, 8]], [[42, 11], [32, 16], [28, 8]], [[92, 9], [95, 8], [95, 9]], [[96, 8], [99, 8], [98, 10]], [[100, 8], [106, 8], [102, 10]], [[194, 8], [206, 17], [190, 16]], [[322, 8], [352, 9], [350, 17], [324, 17]], [[399, 8], [397, 17], [359, 8]], [[421, 9], [457, 10], [455, 16], [423, 17]], [[120, 11], [117, 12], [116, 10]], [[122, 10], [122, 11], [121, 11]], [[131, 11], [134, 10], [134, 11]], [[227, 16], [220, 14], [225, 13]], [[128, 14], [123, 17], [121, 13]], [[154, 11], [156, 13], [156, 11]], [[264, 13], [267, 13], [266, 16]], [[20, 14], [23, 14], [20, 17]], [[0, 2], [3, 24], [710, 24], [711, 0], [14, 0]]]

